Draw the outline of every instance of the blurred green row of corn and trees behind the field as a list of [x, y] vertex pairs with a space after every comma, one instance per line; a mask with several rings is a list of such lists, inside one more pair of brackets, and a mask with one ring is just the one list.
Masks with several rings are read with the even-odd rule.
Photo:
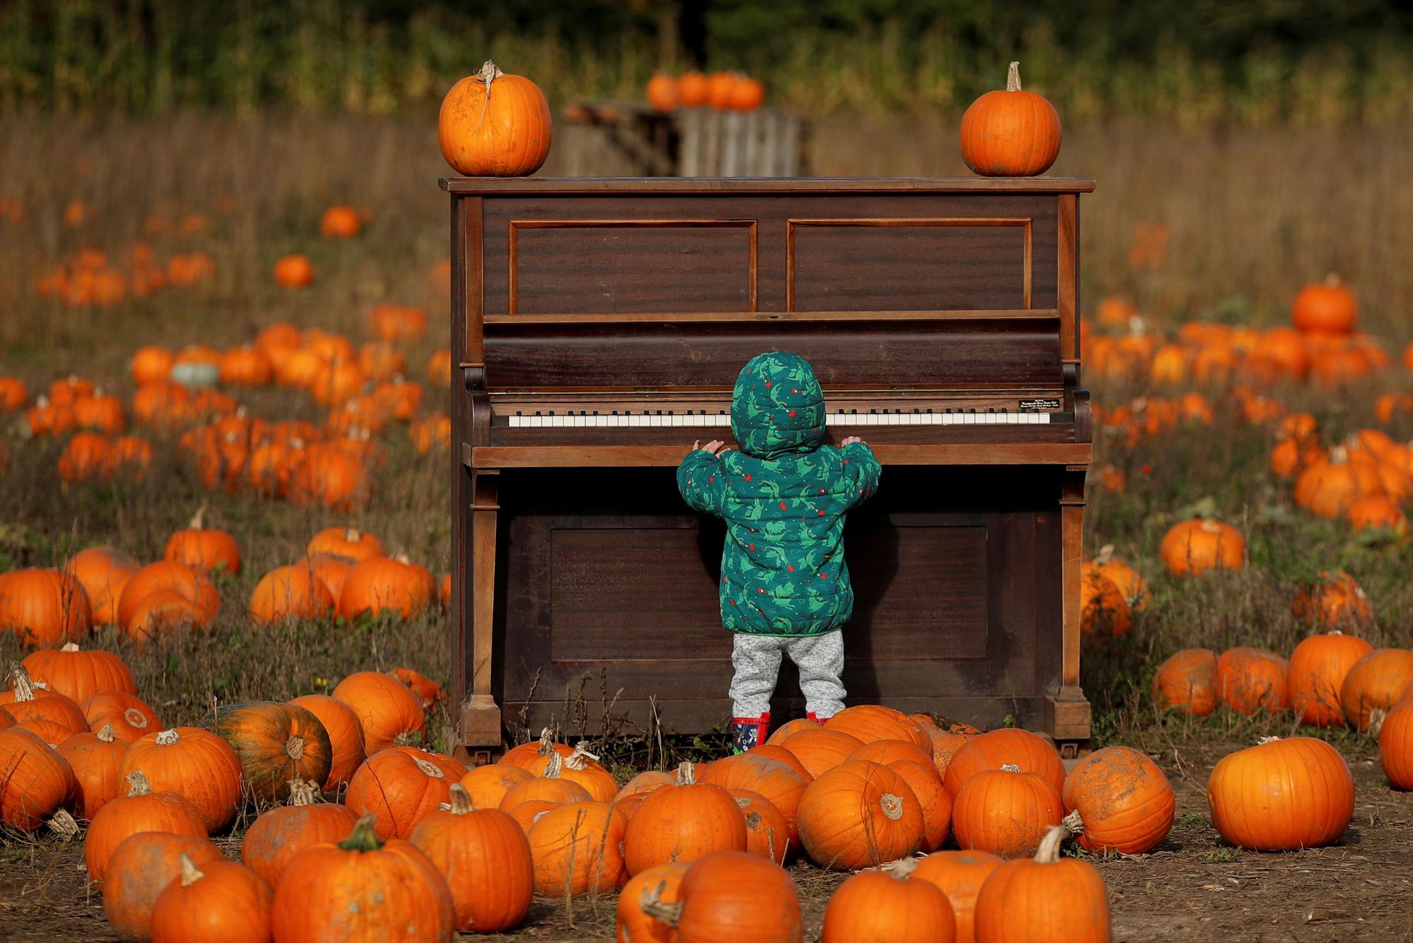
[[743, 69], [774, 103], [959, 109], [1019, 58], [1067, 119], [1406, 113], [1410, 0], [0, 0], [0, 105], [396, 112], [493, 58], [552, 103]]

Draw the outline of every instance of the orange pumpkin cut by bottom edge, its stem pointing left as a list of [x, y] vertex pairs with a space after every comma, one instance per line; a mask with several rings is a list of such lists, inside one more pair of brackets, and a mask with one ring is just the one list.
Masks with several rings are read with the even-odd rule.
[[642, 903], [674, 929], [673, 943], [803, 943], [800, 894], [777, 864], [745, 851], [715, 851], [695, 861], [677, 901]]

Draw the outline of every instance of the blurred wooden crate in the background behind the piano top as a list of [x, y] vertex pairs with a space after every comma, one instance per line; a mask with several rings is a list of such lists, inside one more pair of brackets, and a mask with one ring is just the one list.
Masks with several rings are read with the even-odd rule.
[[569, 177], [805, 177], [807, 133], [804, 120], [773, 109], [572, 102], [560, 147]]

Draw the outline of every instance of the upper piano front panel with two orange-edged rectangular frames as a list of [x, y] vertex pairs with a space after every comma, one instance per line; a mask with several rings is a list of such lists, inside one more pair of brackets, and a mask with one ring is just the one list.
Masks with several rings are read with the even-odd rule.
[[482, 211], [485, 314], [1053, 310], [1060, 199], [507, 194]]

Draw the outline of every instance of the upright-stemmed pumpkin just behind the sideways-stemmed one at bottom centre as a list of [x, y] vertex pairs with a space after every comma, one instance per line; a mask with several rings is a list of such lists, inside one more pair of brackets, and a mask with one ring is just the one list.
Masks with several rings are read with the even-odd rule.
[[634, 875], [668, 861], [745, 848], [746, 823], [736, 800], [722, 786], [698, 783], [692, 763], [682, 763], [677, 783], [649, 793], [633, 813], [623, 837], [623, 861]]

